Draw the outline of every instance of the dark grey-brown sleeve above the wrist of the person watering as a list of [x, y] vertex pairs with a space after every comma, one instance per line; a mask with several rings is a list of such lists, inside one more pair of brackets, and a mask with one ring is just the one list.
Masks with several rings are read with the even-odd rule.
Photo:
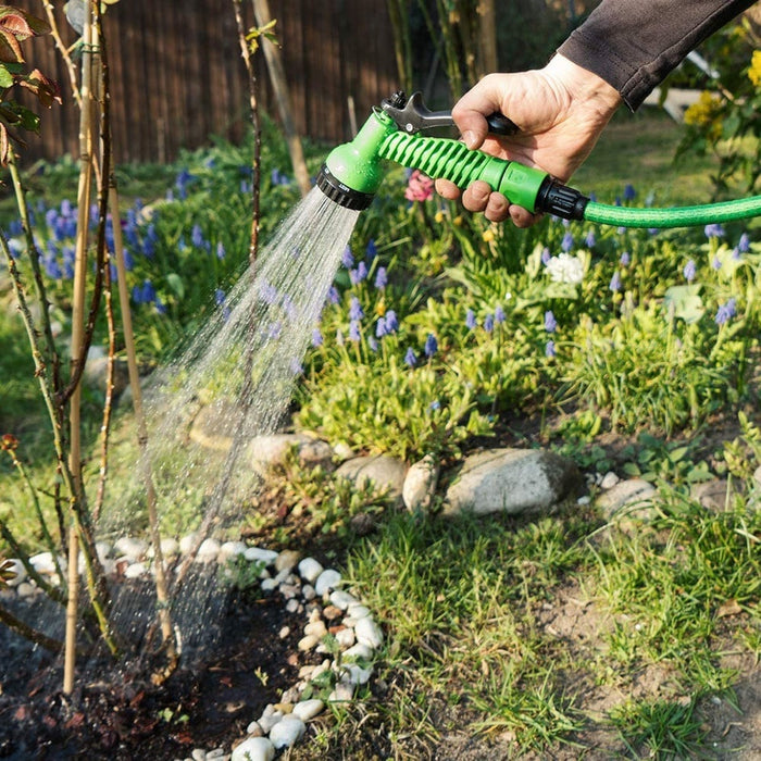
[[602, 0], [558, 52], [634, 111], [687, 53], [753, 0]]

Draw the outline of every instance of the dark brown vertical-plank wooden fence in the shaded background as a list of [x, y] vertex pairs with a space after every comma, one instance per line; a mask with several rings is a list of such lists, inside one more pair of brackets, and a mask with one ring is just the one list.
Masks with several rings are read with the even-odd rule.
[[[240, 54], [234, 0], [121, 0], [104, 20], [116, 161], [165, 162], [212, 135], [238, 140], [250, 125], [248, 78]], [[43, 0], [10, 0], [45, 17]], [[55, 0], [68, 45], [76, 34]], [[253, 26], [241, 3], [246, 28]], [[397, 87], [392, 32], [379, 0], [270, 0], [277, 20], [296, 125], [328, 144], [351, 136], [350, 104], [363, 123], [373, 104]], [[41, 113], [23, 162], [76, 155], [78, 110], [52, 37], [24, 43], [26, 59], [61, 86], [63, 105]], [[261, 108], [277, 117], [264, 57], [255, 57]], [[22, 97], [18, 98], [22, 100]], [[39, 111], [38, 104], [34, 104]]]

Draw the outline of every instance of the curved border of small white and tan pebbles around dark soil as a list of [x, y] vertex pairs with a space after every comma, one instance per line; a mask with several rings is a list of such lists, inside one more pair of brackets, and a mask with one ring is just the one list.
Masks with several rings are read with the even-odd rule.
[[[162, 552], [167, 559], [176, 558], [189, 551], [194, 540], [192, 536], [179, 541], [163, 539]], [[99, 542], [97, 549], [109, 574], [140, 578], [151, 572], [151, 551], [147, 542], [140, 539], [124, 537], [117, 539], [113, 547]], [[201, 544], [196, 562], [215, 562], [232, 569], [228, 563], [240, 562], [240, 558], [252, 565], [258, 564], [263, 592], [280, 595], [288, 612], [304, 613], [307, 623], [298, 643], [299, 651], [324, 653], [325, 658], [319, 665], [301, 666], [298, 682], [283, 693], [279, 702], [265, 707], [262, 715], [248, 725], [246, 736], [237, 741], [230, 752], [225, 752], [224, 748], [196, 748], [189, 757], [176, 761], [272, 761], [278, 751], [298, 743], [307, 732], [307, 723], [326, 708], [325, 701], [320, 698], [303, 697], [310, 682], [332, 672], [333, 689], [326, 701], [348, 702], [373, 675], [372, 662], [383, 644], [383, 631], [370, 609], [344, 588], [346, 582], [338, 571], [323, 567], [314, 558], [300, 558], [292, 550], [276, 552], [249, 547], [242, 541], [220, 544], [215, 539], [205, 539]], [[58, 570], [50, 552], [33, 556], [29, 562], [47, 581], [52, 584], [58, 582]], [[64, 569], [65, 561], [60, 566]], [[21, 598], [41, 594], [28, 578], [21, 561], [11, 560], [11, 570], [16, 576], [9, 583], [10, 591], [4, 594], [15, 594]], [[234, 573], [229, 571], [229, 575]], [[285, 638], [289, 634], [290, 629], [284, 626], [279, 636]], [[333, 637], [332, 648], [324, 641], [328, 635]]]

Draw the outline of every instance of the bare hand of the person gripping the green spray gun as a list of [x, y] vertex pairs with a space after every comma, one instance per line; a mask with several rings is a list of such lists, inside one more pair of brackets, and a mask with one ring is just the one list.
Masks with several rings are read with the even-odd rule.
[[[615, 110], [621, 96], [596, 74], [562, 55], [541, 70], [515, 74], [489, 74], [452, 109], [452, 118], [471, 149], [538, 166], [565, 183], [584, 163]], [[520, 132], [511, 137], [488, 135], [486, 116], [495, 111], [514, 122]], [[436, 180], [437, 192], [449, 200], [462, 197], [472, 212], [515, 226], [528, 227], [538, 219], [482, 180], [464, 191], [453, 183]]]

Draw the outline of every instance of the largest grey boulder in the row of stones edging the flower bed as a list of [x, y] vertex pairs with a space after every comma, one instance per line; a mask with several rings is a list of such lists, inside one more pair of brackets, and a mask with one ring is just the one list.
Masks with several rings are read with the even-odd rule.
[[516, 514], [547, 510], [579, 479], [576, 466], [542, 449], [491, 449], [466, 458], [447, 489], [444, 513]]

